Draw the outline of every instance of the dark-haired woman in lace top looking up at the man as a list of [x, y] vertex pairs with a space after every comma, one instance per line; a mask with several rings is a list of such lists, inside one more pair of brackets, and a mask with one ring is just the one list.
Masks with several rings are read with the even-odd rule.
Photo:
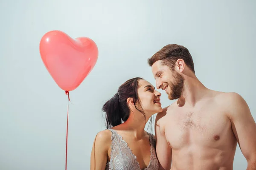
[[155, 137], [144, 128], [153, 114], [163, 111], [160, 96], [139, 77], [119, 87], [102, 108], [108, 130], [93, 142], [91, 170], [158, 170]]

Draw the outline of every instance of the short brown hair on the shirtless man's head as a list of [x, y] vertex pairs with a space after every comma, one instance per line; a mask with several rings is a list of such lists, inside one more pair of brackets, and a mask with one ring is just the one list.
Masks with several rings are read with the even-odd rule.
[[195, 73], [194, 62], [189, 50], [177, 44], [169, 44], [157, 51], [151, 58], [148, 59], [148, 65], [152, 66], [154, 62], [161, 60], [164, 65], [169, 66], [174, 70], [177, 59], [183, 59], [185, 64]]

